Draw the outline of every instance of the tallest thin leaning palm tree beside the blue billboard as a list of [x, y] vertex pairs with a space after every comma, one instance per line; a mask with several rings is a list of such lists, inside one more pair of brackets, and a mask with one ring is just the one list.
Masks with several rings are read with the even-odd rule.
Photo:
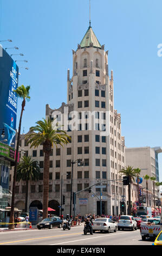
[[[14, 178], [13, 178], [13, 185], [12, 185], [10, 223], [14, 223], [15, 184], [16, 184], [16, 172], [17, 172], [18, 147], [20, 144], [21, 122], [22, 122], [22, 115], [23, 115], [23, 111], [24, 111], [24, 107], [25, 107], [25, 102], [26, 102], [26, 100], [30, 100], [29, 90], [30, 90], [30, 86], [24, 87], [23, 85], [18, 87], [16, 90], [14, 90], [14, 92], [17, 93], [17, 96], [20, 97], [21, 99], [23, 99], [23, 101], [22, 101], [21, 115], [20, 115], [20, 121], [19, 121], [19, 126], [18, 126], [18, 135], [17, 135]], [[14, 229], [14, 228], [15, 228], [14, 224], [9, 224], [9, 229]]]

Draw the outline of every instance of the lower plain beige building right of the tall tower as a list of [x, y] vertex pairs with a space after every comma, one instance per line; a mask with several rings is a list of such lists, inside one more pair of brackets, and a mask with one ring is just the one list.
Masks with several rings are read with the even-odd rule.
[[[150, 147], [141, 147], [141, 148], [125, 148], [126, 153], [126, 166], [133, 166], [133, 168], [141, 169], [141, 178], [142, 183], [139, 184], [141, 191], [143, 191], [143, 196], [146, 196], [146, 180], [144, 176], [147, 174], [150, 177], [155, 177], [156, 181], [159, 182], [159, 166], [158, 166], [158, 154], [162, 152], [160, 147], [150, 148]], [[137, 182], [135, 181], [132, 184], [132, 202], [135, 205], [135, 202], [138, 202], [138, 193], [137, 193]], [[159, 187], [155, 186], [155, 200], [159, 198]], [[148, 205], [147, 199], [144, 206], [151, 206], [154, 210], [154, 201], [153, 201], [153, 181], [148, 179]], [[160, 198], [159, 198], [160, 199]], [[158, 206], [157, 206], [158, 208]]]

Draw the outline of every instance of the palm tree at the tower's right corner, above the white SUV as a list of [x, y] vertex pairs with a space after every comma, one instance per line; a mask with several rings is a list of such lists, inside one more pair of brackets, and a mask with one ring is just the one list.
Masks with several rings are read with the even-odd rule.
[[131, 183], [132, 179], [134, 181], [134, 177], [137, 176], [135, 170], [132, 166], [127, 166], [124, 169], [121, 169], [119, 173], [124, 174], [125, 176], [129, 177], [129, 184], [128, 184], [128, 215], [131, 215]]

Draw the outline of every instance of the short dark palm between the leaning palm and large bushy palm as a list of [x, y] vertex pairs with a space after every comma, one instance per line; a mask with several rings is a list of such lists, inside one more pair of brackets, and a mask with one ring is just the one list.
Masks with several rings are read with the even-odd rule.
[[17, 167], [16, 180], [26, 181], [26, 192], [25, 192], [25, 212], [27, 212], [28, 207], [28, 184], [29, 180], [38, 180], [40, 175], [40, 166], [37, 161], [31, 159], [31, 156], [23, 156], [22, 161]]

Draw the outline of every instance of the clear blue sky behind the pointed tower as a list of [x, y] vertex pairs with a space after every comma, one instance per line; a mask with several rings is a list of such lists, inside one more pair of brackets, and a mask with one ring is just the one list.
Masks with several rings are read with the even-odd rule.
[[[121, 113], [126, 147], [162, 147], [161, 0], [91, 0], [92, 28], [109, 50], [114, 71], [114, 107]], [[46, 104], [58, 108], [67, 100], [67, 69], [89, 25], [88, 0], [0, 0], [0, 39], [17, 46], [29, 63], [20, 68], [19, 85], [31, 86], [22, 130], [45, 117]], [[14, 56], [13, 56], [14, 57]], [[16, 56], [15, 56], [16, 57]], [[71, 71], [72, 74], [72, 71]], [[21, 100], [18, 101], [21, 108]], [[18, 119], [20, 115], [18, 114]], [[18, 122], [17, 122], [18, 124]], [[159, 155], [162, 181], [162, 154]]]

